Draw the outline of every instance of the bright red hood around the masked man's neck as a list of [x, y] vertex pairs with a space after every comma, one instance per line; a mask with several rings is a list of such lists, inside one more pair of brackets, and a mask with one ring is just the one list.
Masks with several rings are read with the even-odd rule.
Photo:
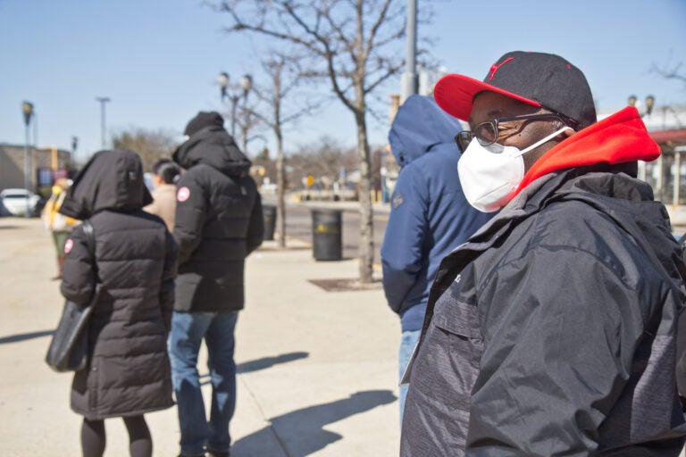
[[660, 146], [648, 135], [639, 111], [627, 106], [543, 154], [524, 175], [515, 195], [535, 179], [556, 170], [596, 163], [651, 162], [659, 155]]

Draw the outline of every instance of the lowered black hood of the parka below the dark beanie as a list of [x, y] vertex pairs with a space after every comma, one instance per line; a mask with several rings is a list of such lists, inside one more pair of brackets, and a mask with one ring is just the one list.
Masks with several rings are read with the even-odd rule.
[[174, 162], [188, 170], [203, 163], [232, 178], [242, 178], [250, 171], [250, 160], [240, 152], [236, 141], [222, 127], [199, 130], [174, 152]]

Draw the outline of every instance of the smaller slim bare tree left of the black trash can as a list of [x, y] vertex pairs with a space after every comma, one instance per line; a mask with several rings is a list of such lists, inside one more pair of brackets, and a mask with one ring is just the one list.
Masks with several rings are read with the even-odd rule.
[[266, 87], [255, 87], [255, 95], [267, 106], [264, 112], [255, 111], [255, 117], [264, 125], [272, 129], [276, 137], [276, 222], [277, 244], [286, 245], [286, 208], [285, 193], [285, 161], [283, 153], [283, 131], [289, 124], [300, 119], [305, 114], [311, 114], [318, 104], [311, 97], [301, 97], [298, 103], [284, 104], [294, 94], [294, 90], [301, 82], [300, 71], [295, 53], [272, 52], [269, 58], [262, 62], [264, 72], [269, 77]]

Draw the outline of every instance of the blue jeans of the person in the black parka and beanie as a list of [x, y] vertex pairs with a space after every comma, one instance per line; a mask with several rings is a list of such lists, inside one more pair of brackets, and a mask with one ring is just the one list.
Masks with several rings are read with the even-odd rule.
[[[229, 452], [229, 422], [236, 408], [234, 329], [238, 312], [174, 312], [167, 342], [181, 429], [181, 453], [205, 455], [205, 448]], [[205, 338], [212, 379], [212, 411], [206, 420], [197, 372], [197, 354]]]

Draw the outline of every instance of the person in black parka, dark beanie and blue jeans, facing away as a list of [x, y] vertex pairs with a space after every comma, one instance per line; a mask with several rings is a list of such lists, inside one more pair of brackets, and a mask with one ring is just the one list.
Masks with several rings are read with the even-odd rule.
[[[177, 184], [174, 238], [179, 276], [169, 351], [178, 403], [181, 455], [229, 455], [229, 422], [236, 405], [234, 329], [245, 301], [244, 263], [263, 238], [260, 195], [250, 161], [223, 129], [217, 112], [188, 122], [188, 140], [173, 159], [186, 171]], [[212, 377], [206, 420], [197, 372], [203, 338]]]

